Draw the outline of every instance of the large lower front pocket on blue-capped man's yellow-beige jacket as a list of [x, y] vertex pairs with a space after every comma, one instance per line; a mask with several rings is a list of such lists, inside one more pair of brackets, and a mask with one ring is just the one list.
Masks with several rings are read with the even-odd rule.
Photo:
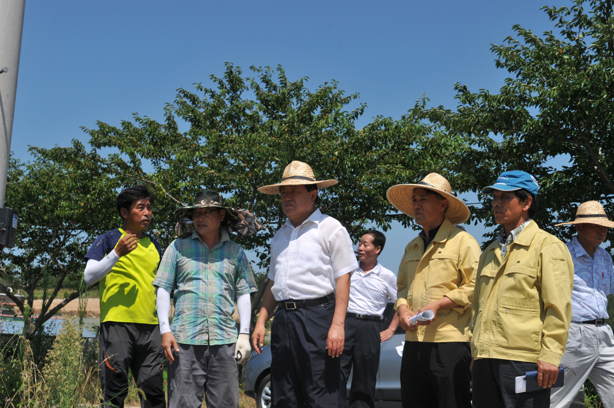
[[536, 353], [541, 348], [542, 320], [539, 300], [502, 297], [497, 304], [497, 345]]

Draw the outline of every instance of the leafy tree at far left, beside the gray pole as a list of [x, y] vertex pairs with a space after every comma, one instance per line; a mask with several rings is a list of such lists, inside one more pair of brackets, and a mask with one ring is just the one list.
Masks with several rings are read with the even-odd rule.
[[[75, 290], [52, 307], [61, 288], [78, 287], [91, 241], [111, 228], [118, 187], [101, 171], [99, 157], [79, 144], [56, 148], [61, 160], [50, 159], [44, 149], [31, 151], [31, 162], [10, 162], [6, 205], [19, 211], [18, 232], [15, 248], [0, 253], [0, 290], [22, 315], [34, 309], [34, 291], [43, 289], [42, 310], [33, 316], [27, 337], [79, 297]], [[8, 288], [21, 288], [26, 296]]]

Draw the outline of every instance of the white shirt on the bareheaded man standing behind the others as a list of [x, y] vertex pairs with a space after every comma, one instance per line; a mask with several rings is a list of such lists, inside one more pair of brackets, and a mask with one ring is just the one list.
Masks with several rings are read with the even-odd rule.
[[391, 270], [378, 262], [367, 273], [359, 267], [352, 274], [348, 312], [383, 317], [388, 298], [397, 301], [397, 275]]

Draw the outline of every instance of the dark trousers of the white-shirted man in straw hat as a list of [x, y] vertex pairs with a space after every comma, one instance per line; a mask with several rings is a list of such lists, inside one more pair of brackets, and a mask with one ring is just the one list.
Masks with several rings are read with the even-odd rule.
[[274, 408], [336, 407], [340, 358], [326, 340], [335, 300], [297, 310], [280, 309], [271, 325], [271, 393]]

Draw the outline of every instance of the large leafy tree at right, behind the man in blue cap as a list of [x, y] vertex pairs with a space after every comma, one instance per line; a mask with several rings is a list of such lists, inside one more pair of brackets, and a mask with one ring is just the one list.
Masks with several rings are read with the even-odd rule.
[[[464, 147], [450, 170], [462, 189], [479, 192], [501, 171], [528, 171], [541, 185], [537, 221], [563, 239], [575, 231], [551, 228], [555, 221], [573, 219], [586, 200], [607, 200], [612, 211], [614, 194], [612, 2], [572, 4], [543, 7], [554, 32], [538, 36], [516, 25], [515, 36], [492, 45], [495, 65], [511, 74], [499, 93], [456, 84], [456, 111], [422, 112], [461, 137]], [[563, 164], [555, 168], [553, 159]], [[489, 200], [483, 201], [472, 212], [494, 226]]]

